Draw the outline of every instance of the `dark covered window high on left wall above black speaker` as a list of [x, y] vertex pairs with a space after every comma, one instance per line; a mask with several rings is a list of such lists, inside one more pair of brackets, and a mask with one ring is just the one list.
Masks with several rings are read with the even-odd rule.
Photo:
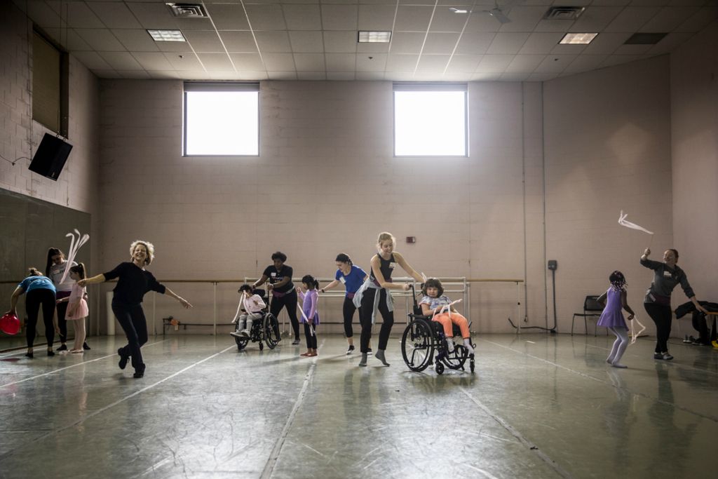
[[32, 119], [62, 133], [62, 53], [37, 32], [32, 35]]

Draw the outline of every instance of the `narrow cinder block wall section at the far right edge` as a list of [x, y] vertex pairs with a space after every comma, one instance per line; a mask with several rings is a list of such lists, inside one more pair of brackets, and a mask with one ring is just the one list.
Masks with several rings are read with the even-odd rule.
[[674, 246], [698, 299], [718, 302], [718, 21], [671, 55], [671, 119]]

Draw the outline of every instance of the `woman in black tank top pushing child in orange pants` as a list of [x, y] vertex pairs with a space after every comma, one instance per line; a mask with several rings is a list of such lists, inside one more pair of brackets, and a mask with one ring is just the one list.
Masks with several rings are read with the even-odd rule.
[[371, 340], [371, 319], [376, 308], [381, 312], [383, 320], [381, 330], [379, 331], [379, 348], [375, 357], [381, 361], [384, 366], [389, 366], [386, 362], [384, 351], [389, 340], [391, 327], [394, 324], [393, 308], [390, 308], [391, 297], [388, 289], [409, 289], [409, 284], [393, 284], [391, 282], [391, 273], [396, 265], [401, 266], [404, 271], [409, 273], [411, 277], [418, 282], [424, 281], [424, 276], [414, 270], [409, 263], [404, 260], [404, 256], [396, 253], [394, 246], [396, 239], [391, 233], [381, 233], [379, 235], [377, 246], [378, 254], [371, 259], [371, 270], [369, 279], [373, 283], [373, 287], [364, 289], [361, 298], [361, 311], [359, 320], [361, 322], [361, 361], [359, 366], [366, 366], [369, 341]]

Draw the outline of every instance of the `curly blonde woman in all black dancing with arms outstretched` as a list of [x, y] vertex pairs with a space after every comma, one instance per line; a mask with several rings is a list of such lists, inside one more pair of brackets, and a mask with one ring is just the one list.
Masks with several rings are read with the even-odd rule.
[[145, 364], [142, 361], [140, 348], [147, 342], [147, 321], [142, 310], [142, 298], [149, 291], [155, 291], [177, 299], [183, 307], [190, 308], [192, 304], [182, 297], [174, 294], [154, 279], [154, 276], [144, 269], [154, 259], [154, 246], [148, 241], [134, 241], [130, 245], [131, 262], [121, 263], [112, 271], [98, 274], [88, 279], [80, 279], [78, 284], [94, 284], [117, 278], [117, 286], [113, 290], [112, 312], [127, 336], [127, 345], [117, 350], [120, 355], [120, 369], [127, 366], [132, 358], [134, 377], [144, 376]]

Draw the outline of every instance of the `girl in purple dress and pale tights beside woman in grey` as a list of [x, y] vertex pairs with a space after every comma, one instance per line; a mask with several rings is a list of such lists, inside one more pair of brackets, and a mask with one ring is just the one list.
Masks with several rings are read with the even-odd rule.
[[608, 298], [608, 304], [605, 304], [597, 324], [602, 327], [607, 327], [616, 335], [616, 340], [611, 348], [611, 353], [608, 355], [608, 358], [606, 358], [606, 362], [614, 368], [625, 368], [626, 366], [620, 363], [620, 359], [628, 347], [628, 326], [626, 326], [626, 322], [623, 320], [621, 310], [628, 311], [629, 321], [633, 320], [634, 313], [626, 302], [626, 279], [623, 273], [613, 271], [611, 276], [608, 277], [608, 281], [611, 282], [611, 287], [598, 298], [598, 302], [601, 304], [605, 304], [606, 298]]

